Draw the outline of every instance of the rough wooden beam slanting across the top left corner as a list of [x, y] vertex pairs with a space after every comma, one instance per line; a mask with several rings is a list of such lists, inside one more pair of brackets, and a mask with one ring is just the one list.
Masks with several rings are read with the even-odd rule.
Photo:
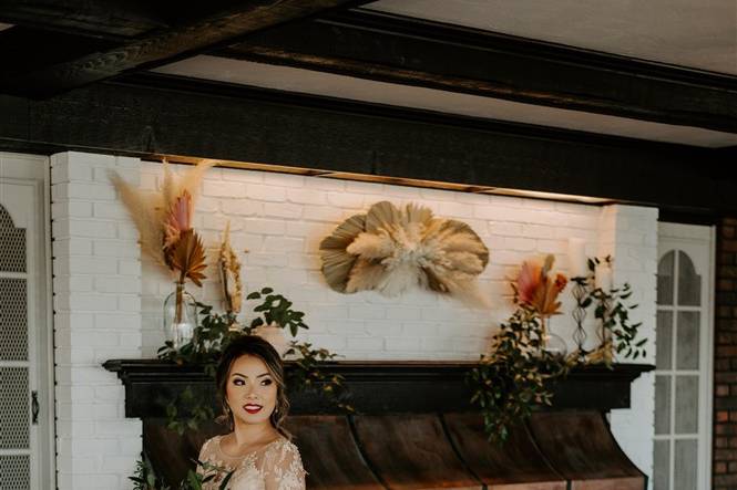
[[[337, 8], [356, 7], [358, 0], [221, 0], [217, 11], [123, 42], [81, 58], [41, 66], [28, 73], [3, 73], [0, 92], [37, 98], [131, 72], [164, 64], [246, 34]], [[121, 2], [121, 4], [124, 4]], [[0, 18], [2, 9], [0, 8]]]

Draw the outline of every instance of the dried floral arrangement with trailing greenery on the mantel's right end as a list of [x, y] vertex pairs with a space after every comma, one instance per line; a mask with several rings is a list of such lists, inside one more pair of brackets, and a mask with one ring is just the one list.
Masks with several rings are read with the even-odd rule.
[[[611, 262], [611, 258], [605, 259]], [[596, 260], [590, 261], [591, 275], [586, 283], [595, 283]], [[467, 383], [471, 387], [471, 403], [477, 405], [484, 419], [489, 440], [503, 444], [512, 428], [524, 421], [540, 405], [551, 405], [553, 385], [564, 378], [572, 368], [584, 364], [605, 364], [611, 367], [613, 348], [625, 358], [644, 355], [646, 340], [637, 340], [639, 323], [631, 324], [626, 305], [632, 294], [629, 284], [621, 289], [591, 288], [581, 304], [596, 305], [595, 317], [604, 332], [601, 346], [593, 353], [573, 352], [561, 355], [545, 348], [547, 322], [560, 314], [559, 296], [567, 279], [553, 271], [554, 257], [544, 261], [525, 261], [515, 281], [515, 311], [492, 337], [491, 348], [479, 364], [469, 372]], [[581, 281], [582, 278], [574, 278]], [[607, 288], [608, 289], [608, 288]], [[606, 336], [613, 334], [614, 338]], [[607, 341], [608, 338], [608, 341]]]

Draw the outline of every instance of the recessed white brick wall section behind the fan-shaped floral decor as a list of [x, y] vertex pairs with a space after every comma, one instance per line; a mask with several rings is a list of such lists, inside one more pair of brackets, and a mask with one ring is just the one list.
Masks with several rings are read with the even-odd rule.
[[[142, 164], [142, 185], [155, 189], [157, 164]], [[469, 310], [428, 292], [397, 299], [376, 293], [352, 295], [331, 291], [320, 274], [320, 240], [345, 218], [379, 200], [409, 201], [471, 225], [491, 250], [480, 278], [489, 310]], [[567, 239], [581, 237], [596, 251], [600, 208], [437, 189], [355, 183], [295, 175], [213, 169], [206, 175], [195, 225], [213, 251], [225, 222], [243, 254], [248, 291], [272, 285], [305, 311], [305, 340], [330, 347], [349, 359], [474, 359], [484, 350], [493, 325], [509, 316], [509, 278], [528, 258], [556, 253], [566, 267]], [[170, 277], [143, 260], [143, 352], [154, 356], [163, 343], [161, 305], [173, 286]], [[188, 286], [199, 300], [219, 305], [214, 268], [203, 289]], [[253, 303], [252, 303], [253, 304]], [[248, 316], [249, 319], [249, 316]], [[553, 329], [569, 332], [567, 319]]]

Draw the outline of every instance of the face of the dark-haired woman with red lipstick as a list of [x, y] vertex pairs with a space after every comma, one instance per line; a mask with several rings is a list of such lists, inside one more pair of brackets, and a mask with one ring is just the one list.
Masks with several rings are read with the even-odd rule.
[[242, 355], [231, 366], [225, 389], [235, 423], [268, 424], [276, 407], [276, 382], [258, 357]]

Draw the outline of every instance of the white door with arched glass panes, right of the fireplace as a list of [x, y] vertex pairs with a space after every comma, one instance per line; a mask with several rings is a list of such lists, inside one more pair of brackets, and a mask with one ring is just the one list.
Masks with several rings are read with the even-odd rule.
[[[704, 228], [704, 227], [699, 227]], [[707, 229], [708, 230], [708, 229]], [[704, 283], [706, 247], [673, 239], [657, 268], [654, 490], [705, 489], [710, 472], [707, 387], [710, 314]]]

